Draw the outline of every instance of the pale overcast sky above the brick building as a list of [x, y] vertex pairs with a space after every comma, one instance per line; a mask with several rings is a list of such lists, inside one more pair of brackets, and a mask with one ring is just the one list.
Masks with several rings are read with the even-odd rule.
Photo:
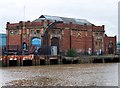
[[0, 0], [0, 32], [5, 33], [6, 22], [32, 21], [43, 14], [87, 19], [95, 25], [105, 25], [107, 35], [118, 35], [118, 1]]

